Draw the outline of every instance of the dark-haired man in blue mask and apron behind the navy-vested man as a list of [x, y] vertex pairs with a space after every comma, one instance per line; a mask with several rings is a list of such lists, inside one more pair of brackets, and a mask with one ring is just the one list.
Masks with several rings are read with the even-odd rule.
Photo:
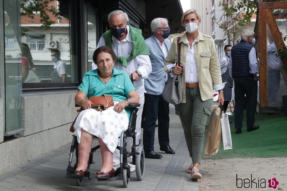
[[233, 79], [231, 76], [231, 66], [229, 63], [230, 53], [232, 45], [228, 44], [224, 47], [225, 56], [219, 59], [220, 69], [221, 69], [221, 78], [222, 82], [227, 82], [223, 88], [224, 92], [224, 103], [223, 108], [227, 110], [229, 101], [231, 101]]

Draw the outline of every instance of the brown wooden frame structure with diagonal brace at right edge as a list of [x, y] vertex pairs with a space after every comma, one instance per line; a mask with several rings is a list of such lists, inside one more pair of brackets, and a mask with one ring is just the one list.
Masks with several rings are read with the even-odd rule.
[[[287, 9], [287, 2], [269, 2], [259, 3], [259, 94], [260, 94], [260, 112], [274, 113], [282, 112], [283, 106], [268, 105], [267, 90], [267, 25], [274, 39], [278, 50], [283, 49], [283, 39], [275, 19], [287, 18], [287, 14], [274, 14], [272, 10]], [[286, 29], [287, 30], [287, 29]], [[286, 62], [282, 61], [283, 65]], [[287, 84], [286, 70], [281, 68], [281, 75]]]

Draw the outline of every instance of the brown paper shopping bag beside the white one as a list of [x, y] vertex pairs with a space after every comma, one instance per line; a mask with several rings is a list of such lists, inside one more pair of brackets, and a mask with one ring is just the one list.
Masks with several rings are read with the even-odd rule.
[[221, 145], [221, 109], [218, 106], [211, 113], [205, 140], [205, 155], [215, 155]]

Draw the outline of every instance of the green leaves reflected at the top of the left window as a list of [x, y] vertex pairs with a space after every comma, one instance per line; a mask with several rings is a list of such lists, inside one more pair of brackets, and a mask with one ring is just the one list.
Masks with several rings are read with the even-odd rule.
[[[49, 6], [54, 0], [20, 0], [21, 16], [28, 16], [34, 19], [35, 14], [40, 15], [40, 22], [45, 30], [49, 30], [50, 25], [55, 24], [49, 15], [55, 16], [57, 19], [62, 19], [60, 12], [54, 6]], [[26, 31], [27, 32], [27, 31]], [[22, 35], [25, 31], [22, 31]]]

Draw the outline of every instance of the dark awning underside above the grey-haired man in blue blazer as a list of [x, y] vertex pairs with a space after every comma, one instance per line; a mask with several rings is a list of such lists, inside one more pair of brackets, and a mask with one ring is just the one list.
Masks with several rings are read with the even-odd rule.
[[146, 22], [151, 23], [155, 18], [162, 17], [168, 19], [170, 34], [185, 31], [181, 25], [183, 15], [180, 0], [144, 0], [146, 3]]

